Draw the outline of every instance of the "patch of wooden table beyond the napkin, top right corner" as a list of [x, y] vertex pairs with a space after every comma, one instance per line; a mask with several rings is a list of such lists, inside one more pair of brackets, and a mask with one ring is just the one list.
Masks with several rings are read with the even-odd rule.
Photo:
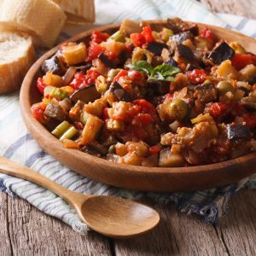
[[200, 2], [210, 7], [213, 12], [241, 15], [247, 18], [256, 19], [255, 0], [200, 0]]

